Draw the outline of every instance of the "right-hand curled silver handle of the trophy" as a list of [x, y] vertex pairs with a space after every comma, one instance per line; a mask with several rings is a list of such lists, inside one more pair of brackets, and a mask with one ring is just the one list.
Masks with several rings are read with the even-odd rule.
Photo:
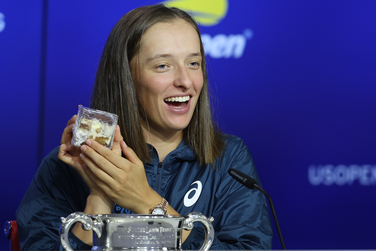
[[213, 243], [214, 238], [214, 228], [211, 222], [213, 221], [213, 217], [207, 218], [202, 213], [189, 213], [188, 218], [185, 219], [183, 222], [183, 228], [186, 230], [191, 230], [193, 228], [193, 222], [200, 222], [202, 225], [204, 225], [205, 228], [205, 241], [204, 244], [202, 244], [200, 250], [207, 251], [210, 246]]

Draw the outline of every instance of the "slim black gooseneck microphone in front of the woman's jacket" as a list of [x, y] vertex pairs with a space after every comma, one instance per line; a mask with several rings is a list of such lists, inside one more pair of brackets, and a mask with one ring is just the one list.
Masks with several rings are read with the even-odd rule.
[[271, 201], [269, 194], [264, 189], [262, 189], [260, 186], [258, 186], [257, 181], [255, 179], [251, 178], [250, 176], [246, 175], [245, 173], [240, 172], [239, 170], [230, 168], [229, 169], [229, 175], [231, 175], [232, 178], [239, 181], [243, 186], [245, 186], [249, 189], [260, 190], [268, 198], [271, 213], [273, 214], [274, 222], [276, 223], [276, 228], [277, 228], [277, 232], [278, 232], [278, 236], [279, 236], [279, 240], [280, 240], [282, 249], [286, 249], [285, 243], [284, 243], [283, 238], [282, 238], [282, 233], [281, 233], [281, 230], [279, 228], [276, 210], [274, 210], [273, 201]]

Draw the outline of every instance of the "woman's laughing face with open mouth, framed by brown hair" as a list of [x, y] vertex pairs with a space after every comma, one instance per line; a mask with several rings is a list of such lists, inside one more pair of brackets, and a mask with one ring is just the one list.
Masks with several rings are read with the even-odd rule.
[[130, 64], [150, 131], [176, 132], [188, 125], [203, 86], [202, 56], [199, 36], [184, 20], [157, 23], [144, 33]]

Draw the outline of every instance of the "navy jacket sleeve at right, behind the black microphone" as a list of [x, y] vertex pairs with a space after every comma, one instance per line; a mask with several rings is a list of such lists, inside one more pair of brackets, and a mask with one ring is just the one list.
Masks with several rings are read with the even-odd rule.
[[[227, 144], [225, 154], [215, 167], [221, 180], [214, 195], [215, 237], [210, 249], [271, 249], [273, 232], [265, 196], [244, 187], [227, 173], [229, 168], [240, 170], [261, 185], [250, 152], [240, 138]], [[182, 248], [199, 249], [204, 239], [204, 228], [197, 225]]]

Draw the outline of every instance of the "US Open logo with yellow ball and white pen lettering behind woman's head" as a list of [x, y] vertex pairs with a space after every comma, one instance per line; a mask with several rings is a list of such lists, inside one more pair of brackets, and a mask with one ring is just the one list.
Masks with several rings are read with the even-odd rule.
[[[219, 24], [226, 17], [229, 6], [227, 0], [216, 0], [215, 4], [210, 0], [167, 0], [162, 3], [191, 13], [200, 26]], [[211, 58], [241, 58], [247, 40], [253, 38], [253, 30], [246, 28], [240, 34], [202, 34], [201, 37], [205, 54]]]

